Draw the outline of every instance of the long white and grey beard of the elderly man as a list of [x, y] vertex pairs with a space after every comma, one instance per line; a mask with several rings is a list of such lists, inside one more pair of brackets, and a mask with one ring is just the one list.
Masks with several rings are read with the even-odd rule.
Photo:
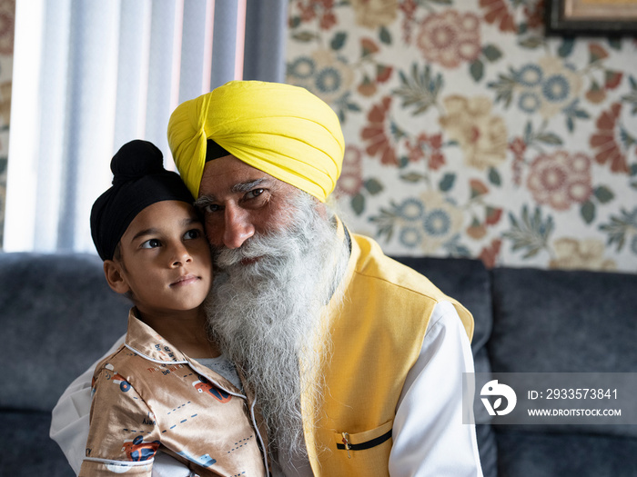
[[[287, 230], [253, 236], [216, 253], [208, 323], [221, 351], [238, 366], [268, 424], [278, 462], [307, 458], [300, 396], [317, 409], [330, 343], [315, 343], [321, 311], [345, 273], [349, 247], [335, 224], [301, 193], [289, 200]], [[259, 257], [255, 263], [241, 263]], [[300, 371], [302, 370], [302, 372]]]

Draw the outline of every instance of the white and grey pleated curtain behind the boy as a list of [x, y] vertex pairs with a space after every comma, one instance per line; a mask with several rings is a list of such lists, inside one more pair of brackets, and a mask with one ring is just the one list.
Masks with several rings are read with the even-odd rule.
[[177, 104], [232, 79], [283, 81], [286, 0], [18, 0], [6, 252], [94, 252], [110, 158], [162, 150]]

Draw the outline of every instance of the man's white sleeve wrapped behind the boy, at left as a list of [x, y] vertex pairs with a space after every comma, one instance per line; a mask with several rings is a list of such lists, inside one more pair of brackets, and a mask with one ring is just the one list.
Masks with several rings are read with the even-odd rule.
[[[62, 449], [66, 460], [76, 475], [86, 455], [89, 413], [91, 412], [91, 381], [97, 363], [112, 354], [124, 343], [125, 336], [119, 338], [104, 356], [93, 363], [71, 383], [57, 401], [53, 409], [49, 435]], [[193, 475], [185, 465], [172, 457], [157, 452], [153, 465], [153, 477], [189, 477]]]

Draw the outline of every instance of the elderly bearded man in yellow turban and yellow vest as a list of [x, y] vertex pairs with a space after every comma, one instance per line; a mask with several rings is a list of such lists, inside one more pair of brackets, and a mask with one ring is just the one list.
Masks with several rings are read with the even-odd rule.
[[[296, 86], [230, 82], [179, 105], [168, 142], [215, 256], [210, 331], [256, 396], [273, 472], [481, 475], [462, 422], [472, 317], [326, 204], [344, 150], [329, 106]], [[54, 411], [69, 460], [82, 417], [63, 410], [87, 407], [82, 390]]]

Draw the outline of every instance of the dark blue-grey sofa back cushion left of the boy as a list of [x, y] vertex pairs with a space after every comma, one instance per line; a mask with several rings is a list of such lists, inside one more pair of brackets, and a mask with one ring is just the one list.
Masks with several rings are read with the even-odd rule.
[[131, 305], [110, 290], [96, 255], [0, 253], [0, 290], [0, 340], [12, 376], [2, 408], [50, 412], [126, 333]]

